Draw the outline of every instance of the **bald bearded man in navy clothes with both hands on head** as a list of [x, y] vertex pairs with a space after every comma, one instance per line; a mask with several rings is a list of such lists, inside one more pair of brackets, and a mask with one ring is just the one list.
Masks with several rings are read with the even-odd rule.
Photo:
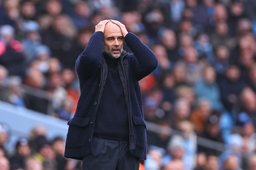
[[[133, 53], [122, 49], [123, 40]], [[81, 96], [68, 122], [65, 157], [83, 160], [83, 170], [139, 169], [139, 159], [146, 159], [146, 123], [138, 81], [157, 65], [125, 25], [99, 22], [76, 61]]]

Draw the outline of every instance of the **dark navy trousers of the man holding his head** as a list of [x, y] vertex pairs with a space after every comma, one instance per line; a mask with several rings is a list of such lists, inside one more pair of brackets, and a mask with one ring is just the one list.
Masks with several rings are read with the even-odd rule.
[[83, 170], [138, 170], [139, 159], [129, 152], [129, 140], [93, 137], [93, 154], [83, 158]]

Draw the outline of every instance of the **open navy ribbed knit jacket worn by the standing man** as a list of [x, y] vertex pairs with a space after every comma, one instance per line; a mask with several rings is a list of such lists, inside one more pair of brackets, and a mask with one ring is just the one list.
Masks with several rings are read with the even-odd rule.
[[[103, 38], [103, 32], [95, 32], [76, 61], [81, 96], [75, 115], [68, 122], [64, 155], [67, 158], [82, 160], [84, 156], [92, 154], [91, 140], [98, 105], [108, 102], [101, 101], [107, 77], [107, 64], [102, 54]], [[125, 36], [125, 42], [133, 53], [123, 51], [117, 66], [129, 113], [129, 151], [140, 159], [146, 159], [146, 123], [138, 81], [153, 72], [158, 61], [133, 33]]]

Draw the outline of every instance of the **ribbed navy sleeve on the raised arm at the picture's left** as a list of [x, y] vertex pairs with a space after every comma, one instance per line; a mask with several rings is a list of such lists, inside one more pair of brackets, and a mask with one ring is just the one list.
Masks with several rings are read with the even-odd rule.
[[79, 79], [89, 78], [101, 63], [104, 34], [101, 31], [93, 33], [84, 51], [79, 55], [75, 69]]

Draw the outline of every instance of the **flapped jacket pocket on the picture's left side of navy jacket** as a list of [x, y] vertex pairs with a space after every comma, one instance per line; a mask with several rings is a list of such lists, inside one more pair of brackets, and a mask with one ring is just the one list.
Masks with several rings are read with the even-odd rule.
[[89, 120], [89, 117], [73, 117], [69, 122], [67, 122], [67, 125], [69, 125], [66, 139], [67, 147], [81, 147], [87, 143], [87, 136], [89, 133]]

